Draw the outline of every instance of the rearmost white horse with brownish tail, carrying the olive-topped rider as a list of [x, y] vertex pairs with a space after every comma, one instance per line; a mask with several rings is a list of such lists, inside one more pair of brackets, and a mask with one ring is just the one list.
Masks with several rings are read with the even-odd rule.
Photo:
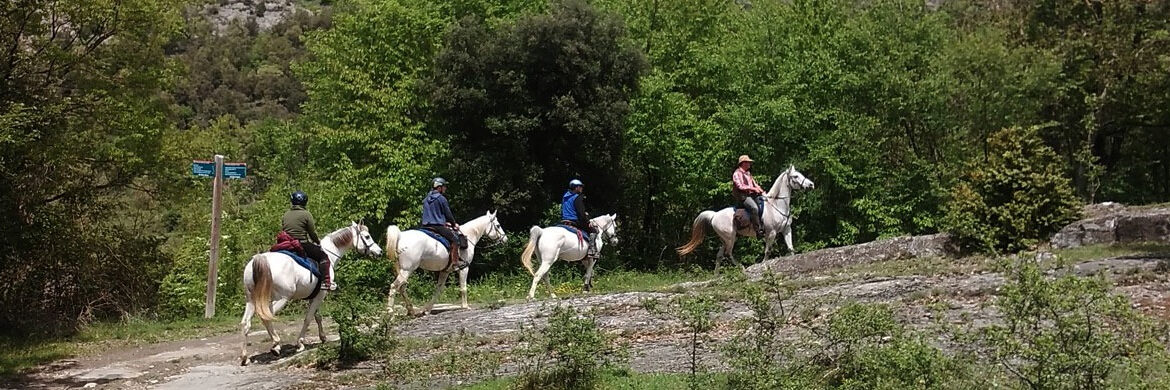
[[[370, 237], [369, 228], [357, 223], [329, 233], [321, 240], [322, 251], [335, 267], [337, 260], [353, 247], [366, 255], [381, 255], [381, 248]], [[321, 272], [324, 274], [330, 271]], [[243, 308], [243, 320], [240, 321], [240, 334], [243, 337], [243, 345], [240, 348], [241, 365], [248, 364], [248, 330], [252, 328], [252, 315], [254, 313], [260, 315], [268, 335], [273, 338], [271, 351], [274, 355], [280, 355], [281, 336], [273, 330], [274, 314], [290, 300], [307, 299], [318, 282], [319, 280], [309, 269], [297, 265], [292, 258], [283, 253], [267, 252], [252, 256], [243, 267], [243, 296], [247, 303]], [[321, 323], [321, 314], [317, 313], [325, 293], [325, 289], [319, 290], [309, 302], [301, 335], [297, 336], [297, 351], [304, 350], [304, 334], [309, 331], [310, 320], [317, 320], [317, 333], [321, 335], [321, 342], [325, 342], [325, 327]]]

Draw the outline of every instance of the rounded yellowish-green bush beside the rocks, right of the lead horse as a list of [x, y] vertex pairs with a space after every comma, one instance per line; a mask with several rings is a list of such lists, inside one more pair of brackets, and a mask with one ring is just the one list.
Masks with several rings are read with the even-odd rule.
[[1009, 128], [987, 139], [986, 159], [951, 191], [947, 227], [968, 247], [1020, 251], [1075, 220], [1080, 201], [1038, 128]]

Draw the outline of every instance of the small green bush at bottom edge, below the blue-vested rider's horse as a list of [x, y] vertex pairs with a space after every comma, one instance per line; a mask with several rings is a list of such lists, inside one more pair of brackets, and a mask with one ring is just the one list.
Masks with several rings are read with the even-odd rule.
[[543, 333], [529, 328], [521, 338], [519, 389], [594, 389], [603, 369], [617, 369], [625, 351], [601, 333], [590, 315], [555, 307]]

